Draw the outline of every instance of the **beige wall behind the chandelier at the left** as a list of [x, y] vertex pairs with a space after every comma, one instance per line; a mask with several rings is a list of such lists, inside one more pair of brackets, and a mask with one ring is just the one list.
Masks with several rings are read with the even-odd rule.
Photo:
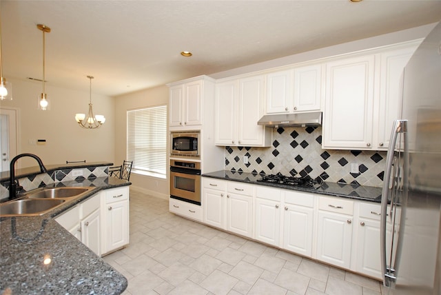
[[[53, 87], [46, 83], [50, 110], [37, 110], [37, 96], [41, 82], [8, 79], [12, 82], [13, 100], [1, 101], [0, 108], [16, 108], [19, 113], [18, 154], [37, 154], [47, 165], [65, 161], [114, 162], [114, 98], [93, 93], [94, 114], [103, 114], [106, 122], [96, 130], [79, 128], [74, 116], [87, 113], [89, 85], [85, 79], [84, 91]], [[35, 145], [30, 140], [45, 139], [45, 145]], [[10, 159], [15, 154], [10, 155]], [[21, 167], [37, 163], [23, 158]]]

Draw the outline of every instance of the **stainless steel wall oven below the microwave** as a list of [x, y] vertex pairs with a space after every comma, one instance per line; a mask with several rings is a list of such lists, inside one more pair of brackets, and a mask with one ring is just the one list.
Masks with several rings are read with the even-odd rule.
[[170, 198], [201, 205], [201, 163], [170, 160]]

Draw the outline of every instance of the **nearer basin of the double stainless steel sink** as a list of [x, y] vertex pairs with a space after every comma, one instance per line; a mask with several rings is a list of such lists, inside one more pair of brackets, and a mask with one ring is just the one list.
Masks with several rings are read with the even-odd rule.
[[62, 199], [22, 199], [0, 205], [0, 216], [42, 215], [63, 204]]

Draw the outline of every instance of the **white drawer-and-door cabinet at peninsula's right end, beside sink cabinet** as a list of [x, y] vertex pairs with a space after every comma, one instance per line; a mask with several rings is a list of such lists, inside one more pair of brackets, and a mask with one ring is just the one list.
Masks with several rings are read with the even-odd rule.
[[129, 243], [129, 189], [118, 187], [105, 190], [101, 195], [103, 212], [103, 248], [107, 254]]

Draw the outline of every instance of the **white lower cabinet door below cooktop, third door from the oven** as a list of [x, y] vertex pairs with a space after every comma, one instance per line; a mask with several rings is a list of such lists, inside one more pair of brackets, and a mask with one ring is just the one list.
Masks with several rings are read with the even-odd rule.
[[279, 245], [280, 202], [256, 198], [256, 240]]

